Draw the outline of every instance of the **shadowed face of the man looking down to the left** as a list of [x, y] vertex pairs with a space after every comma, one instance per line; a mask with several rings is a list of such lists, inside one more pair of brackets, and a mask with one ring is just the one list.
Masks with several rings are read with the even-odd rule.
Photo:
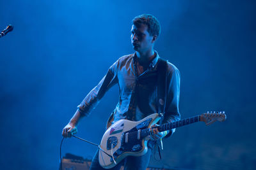
[[155, 38], [154, 36], [150, 36], [147, 29], [148, 27], [145, 24], [141, 24], [140, 27], [132, 25], [131, 43], [133, 49], [137, 52], [147, 52], [154, 45]]

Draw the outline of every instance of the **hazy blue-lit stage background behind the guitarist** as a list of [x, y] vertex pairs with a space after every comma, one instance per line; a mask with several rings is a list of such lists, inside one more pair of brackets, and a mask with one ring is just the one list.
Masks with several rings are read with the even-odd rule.
[[[131, 20], [155, 15], [161, 57], [181, 74], [182, 118], [226, 111], [227, 121], [180, 127], [152, 166], [256, 169], [255, 1], [3, 1], [0, 29], [1, 169], [58, 169], [61, 131], [119, 57], [133, 53]], [[78, 134], [100, 143], [118, 87]], [[92, 158], [95, 146], [65, 139], [63, 155]]]

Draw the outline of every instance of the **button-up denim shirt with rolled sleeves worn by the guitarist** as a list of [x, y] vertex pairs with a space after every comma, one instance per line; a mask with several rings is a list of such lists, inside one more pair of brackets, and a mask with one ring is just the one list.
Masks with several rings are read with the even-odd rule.
[[[120, 119], [139, 121], [152, 113], [157, 113], [159, 103], [156, 86], [159, 55], [156, 51], [155, 53], [156, 57], [140, 76], [137, 73], [136, 53], [120, 57], [109, 67], [108, 73], [99, 84], [77, 106], [79, 111], [84, 116], [89, 115], [104, 94], [113, 85], [118, 84], [119, 101], [109, 117], [107, 128]], [[180, 120], [180, 73], [177, 67], [170, 62], [168, 62], [166, 76], [167, 96], [163, 123]]]

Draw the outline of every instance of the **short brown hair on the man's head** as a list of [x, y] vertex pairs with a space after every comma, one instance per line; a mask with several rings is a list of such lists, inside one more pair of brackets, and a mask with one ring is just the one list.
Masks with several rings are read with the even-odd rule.
[[136, 27], [140, 27], [141, 24], [145, 24], [148, 26], [148, 33], [150, 36], [159, 36], [161, 32], [161, 25], [159, 24], [159, 21], [157, 20], [154, 15], [150, 14], [143, 14], [143, 15], [138, 15], [137, 17], [134, 17], [132, 20], [132, 23]]

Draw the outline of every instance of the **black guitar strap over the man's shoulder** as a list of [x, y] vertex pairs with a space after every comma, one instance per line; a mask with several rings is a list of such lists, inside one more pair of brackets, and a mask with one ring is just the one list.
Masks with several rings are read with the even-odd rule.
[[161, 117], [160, 125], [163, 124], [166, 104], [166, 69], [167, 61], [159, 58], [157, 66], [157, 111]]

